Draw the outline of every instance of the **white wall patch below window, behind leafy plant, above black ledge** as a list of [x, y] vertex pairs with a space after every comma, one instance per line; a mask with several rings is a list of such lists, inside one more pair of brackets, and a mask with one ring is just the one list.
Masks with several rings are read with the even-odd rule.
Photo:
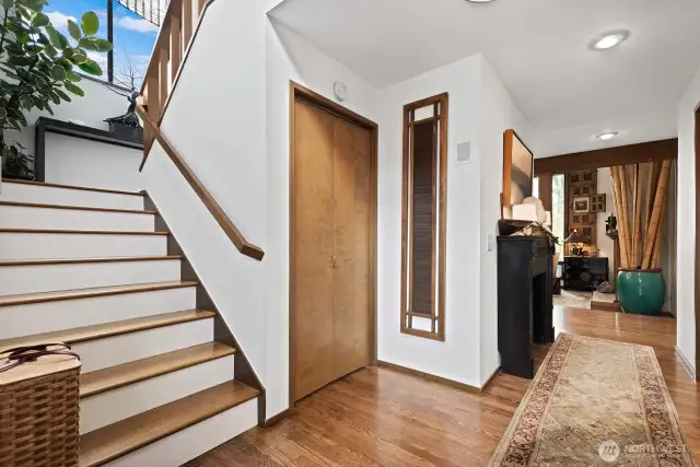
[[[16, 140], [26, 148], [28, 154], [34, 154], [34, 124], [39, 117], [50, 117], [63, 121], [75, 119], [83, 121], [89, 127], [106, 130], [107, 124], [103, 120], [122, 115], [129, 107], [129, 102], [126, 97], [115, 94], [104, 83], [83, 78], [78, 85], [85, 92], [84, 97], [68, 93], [72, 101], [52, 105], [54, 116], [48, 112], [39, 112], [34, 108], [25, 115], [30, 125], [21, 132], [8, 131], [5, 142], [12, 143]], [[48, 159], [51, 148], [47, 147], [46, 150]]]

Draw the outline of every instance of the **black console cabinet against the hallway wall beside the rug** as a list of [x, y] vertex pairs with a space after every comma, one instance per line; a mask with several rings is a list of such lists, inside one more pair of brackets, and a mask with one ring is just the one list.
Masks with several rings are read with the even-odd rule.
[[555, 341], [553, 250], [546, 237], [499, 236], [499, 352], [503, 372], [533, 378], [533, 343]]

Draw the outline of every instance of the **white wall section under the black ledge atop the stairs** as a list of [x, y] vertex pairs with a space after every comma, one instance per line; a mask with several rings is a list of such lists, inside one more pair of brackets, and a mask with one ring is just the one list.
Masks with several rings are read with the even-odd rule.
[[45, 182], [140, 191], [142, 159], [140, 149], [47, 132]]

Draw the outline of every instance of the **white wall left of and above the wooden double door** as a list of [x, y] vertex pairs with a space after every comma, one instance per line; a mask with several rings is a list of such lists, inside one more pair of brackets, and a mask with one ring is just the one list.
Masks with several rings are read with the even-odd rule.
[[290, 80], [332, 101], [336, 101], [334, 82], [343, 81], [348, 98], [341, 105], [376, 122], [378, 93], [305, 38], [269, 19], [266, 22], [266, 70], [268, 189], [264, 265], [265, 308], [269, 323], [266, 355], [269, 418], [289, 407]]

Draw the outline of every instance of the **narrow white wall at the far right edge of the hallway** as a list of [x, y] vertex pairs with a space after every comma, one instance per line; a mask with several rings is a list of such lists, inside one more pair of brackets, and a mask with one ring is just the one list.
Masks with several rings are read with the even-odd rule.
[[676, 231], [677, 348], [697, 372], [696, 362], [696, 149], [695, 114], [700, 103], [700, 69], [678, 105], [678, 215]]

